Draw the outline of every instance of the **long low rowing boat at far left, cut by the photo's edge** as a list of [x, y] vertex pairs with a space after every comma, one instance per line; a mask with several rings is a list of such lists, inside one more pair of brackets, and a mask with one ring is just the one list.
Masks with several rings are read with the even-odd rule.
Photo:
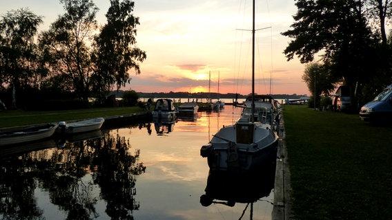
[[14, 129], [0, 133], [0, 146], [22, 144], [50, 137], [57, 129], [57, 123], [29, 126], [25, 129]]

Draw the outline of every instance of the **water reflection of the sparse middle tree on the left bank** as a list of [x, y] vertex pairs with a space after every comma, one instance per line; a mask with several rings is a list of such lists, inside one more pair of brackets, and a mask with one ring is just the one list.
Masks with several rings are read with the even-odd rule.
[[91, 145], [95, 143], [100, 140], [68, 144], [67, 148], [52, 153], [50, 164], [43, 164], [40, 169], [43, 170], [39, 175], [43, 188], [49, 191], [52, 203], [68, 212], [67, 219], [97, 217], [92, 183], [82, 178], [88, 174], [94, 153]]

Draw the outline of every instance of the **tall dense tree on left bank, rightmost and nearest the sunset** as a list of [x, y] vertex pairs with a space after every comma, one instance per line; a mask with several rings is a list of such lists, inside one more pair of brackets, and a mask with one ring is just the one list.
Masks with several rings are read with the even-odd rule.
[[133, 16], [135, 3], [130, 0], [111, 0], [106, 13], [108, 23], [96, 38], [94, 90], [100, 101], [112, 90], [129, 83], [130, 69], [140, 74], [138, 62], [146, 59], [146, 52], [135, 47], [139, 17]]

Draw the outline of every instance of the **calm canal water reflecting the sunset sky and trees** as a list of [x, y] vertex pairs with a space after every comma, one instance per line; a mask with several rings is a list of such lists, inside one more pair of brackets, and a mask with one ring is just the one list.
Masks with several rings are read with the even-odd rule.
[[0, 219], [271, 219], [275, 164], [209, 175], [200, 156], [240, 110], [226, 105], [171, 126], [146, 122], [73, 136], [62, 147], [47, 140], [1, 150]]

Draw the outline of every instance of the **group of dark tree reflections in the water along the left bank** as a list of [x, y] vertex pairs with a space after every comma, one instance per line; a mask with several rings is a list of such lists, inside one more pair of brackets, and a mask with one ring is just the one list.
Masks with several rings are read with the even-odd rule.
[[113, 219], [133, 219], [133, 210], [139, 208], [135, 175], [146, 169], [137, 157], [139, 150], [131, 155], [129, 141], [107, 133], [61, 149], [1, 159], [0, 217], [42, 219], [34, 195], [39, 184], [49, 192], [51, 202], [67, 213], [67, 219], [96, 218], [99, 195], [94, 185], [98, 184], [101, 198], [107, 201], [107, 214]]

